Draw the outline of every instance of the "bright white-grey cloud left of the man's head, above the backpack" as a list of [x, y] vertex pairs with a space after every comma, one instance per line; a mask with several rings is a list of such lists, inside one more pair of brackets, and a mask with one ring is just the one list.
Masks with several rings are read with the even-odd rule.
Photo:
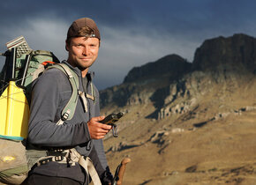
[[[29, 18], [24, 20], [23, 26], [15, 24], [3, 27], [0, 33], [1, 52], [6, 50], [4, 43], [23, 35], [29, 47], [37, 50], [52, 51], [60, 60], [66, 58], [64, 41], [68, 26], [58, 18]], [[0, 59], [0, 70], [4, 65], [4, 57]]]

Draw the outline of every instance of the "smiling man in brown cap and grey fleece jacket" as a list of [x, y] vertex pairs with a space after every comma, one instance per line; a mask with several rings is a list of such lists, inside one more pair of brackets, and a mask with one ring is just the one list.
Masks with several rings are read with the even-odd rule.
[[[88, 184], [87, 170], [69, 161], [71, 158], [62, 158], [70, 155], [63, 150], [73, 147], [85, 159], [92, 159], [102, 184], [110, 183], [112, 175], [102, 138], [111, 126], [100, 123], [104, 116], [100, 116], [99, 93], [92, 84], [94, 74], [88, 72], [98, 56], [100, 42], [100, 32], [91, 18], [75, 20], [68, 30], [65, 48], [69, 55], [63, 63], [78, 75], [79, 92], [87, 94], [84, 99], [79, 97], [71, 120], [62, 119], [62, 110], [72, 96], [72, 85], [64, 72], [46, 70], [34, 83], [28, 143], [48, 150], [59, 161], [34, 165], [23, 184]], [[62, 124], [56, 124], [60, 120]]]

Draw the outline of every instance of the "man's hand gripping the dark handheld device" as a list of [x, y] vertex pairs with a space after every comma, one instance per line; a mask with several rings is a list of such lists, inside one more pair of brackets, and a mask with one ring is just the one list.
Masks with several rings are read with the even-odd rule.
[[90, 137], [92, 139], [101, 139], [112, 129], [112, 126], [100, 122], [104, 118], [105, 116], [93, 117], [87, 122]]

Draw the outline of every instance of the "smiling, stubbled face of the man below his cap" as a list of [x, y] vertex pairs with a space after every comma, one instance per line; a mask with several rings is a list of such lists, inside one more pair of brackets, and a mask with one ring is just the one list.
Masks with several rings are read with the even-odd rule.
[[88, 70], [98, 57], [100, 41], [97, 38], [74, 37], [70, 44], [66, 43], [69, 51], [67, 62], [79, 70]]

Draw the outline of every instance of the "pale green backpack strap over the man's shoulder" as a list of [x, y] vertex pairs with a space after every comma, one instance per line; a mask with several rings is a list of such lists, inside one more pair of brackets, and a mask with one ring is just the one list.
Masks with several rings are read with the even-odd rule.
[[79, 78], [78, 75], [64, 63], [57, 63], [49, 67], [49, 69], [51, 68], [62, 70], [72, 85], [72, 96], [62, 110], [61, 119], [57, 122], [57, 125], [59, 125], [63, 124], [65, 120], [71, 120], [75, 113], [79, 95]]

